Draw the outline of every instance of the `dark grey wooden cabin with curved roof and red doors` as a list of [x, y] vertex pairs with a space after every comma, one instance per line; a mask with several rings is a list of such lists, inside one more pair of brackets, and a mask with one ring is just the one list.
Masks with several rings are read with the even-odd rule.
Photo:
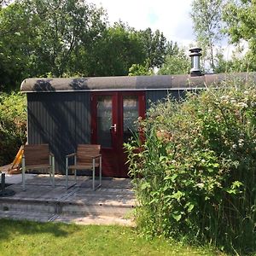
[[[236, 77], [256, 80], [256, 73]], [[131, 136], [133, 122], [144, 117], [149, 102], [169, 94], [218, 84], [234, 74], [159, 75], [83, 79], [25, 79], [27, 142], [49, 143], [57, 172], [65, 172], [65, 155], [79, 143], [102, 145], [103, 176], [126, 177], [123, 143]]]

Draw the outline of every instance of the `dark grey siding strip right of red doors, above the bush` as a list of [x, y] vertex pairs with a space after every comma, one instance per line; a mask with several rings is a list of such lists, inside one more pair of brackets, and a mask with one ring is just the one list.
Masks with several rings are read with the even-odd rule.
[[185, 92], [184, 90], [147, 90], [146, 91], [146, 100], [147, 100], [146, 109], [150, 107], [150, 103], [165, 101], [168, 95], [178, 100], [185, 96]]

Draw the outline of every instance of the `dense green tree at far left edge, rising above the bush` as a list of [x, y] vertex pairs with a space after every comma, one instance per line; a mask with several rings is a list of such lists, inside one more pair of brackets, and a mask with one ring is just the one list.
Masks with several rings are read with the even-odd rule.
[[37, 26], [24, 1], [0, 9], [0, 90], [15, 88], [31, 74]]

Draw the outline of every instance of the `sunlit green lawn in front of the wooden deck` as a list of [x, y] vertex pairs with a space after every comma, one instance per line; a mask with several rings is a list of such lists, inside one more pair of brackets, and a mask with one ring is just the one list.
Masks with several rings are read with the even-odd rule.
[[[177, 241], [147, 241], [122, 226], [37, 223], [0, 219], [0, 255], [220, 255]], [[224, 255], [224, 254], [221, 254]]]

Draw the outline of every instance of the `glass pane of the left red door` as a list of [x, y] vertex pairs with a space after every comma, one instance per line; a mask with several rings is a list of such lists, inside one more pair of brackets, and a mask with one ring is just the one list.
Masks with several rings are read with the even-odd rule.
[[97, 143], [112, 148], [112, 96], [97, 97]]

